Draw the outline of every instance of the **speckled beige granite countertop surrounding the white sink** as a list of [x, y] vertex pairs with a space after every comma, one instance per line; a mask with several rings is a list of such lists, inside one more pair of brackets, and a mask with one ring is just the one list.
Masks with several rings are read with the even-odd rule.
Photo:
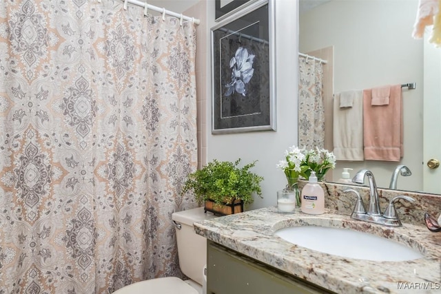
[[[278, 229], [305, 224], [373, 233], [418, 249], [424, 258], [404, 262], [342, 258], [274, 235]], [[392, 228], [353, 220], [329, 209], [311, 216], [300, 211], [281, 214], [276, 207], [267, 207], [195, 222], [194, 229], [208, 240], [336, 293], [441, 293], [441, 233], [431, 233], [423, 226]]]

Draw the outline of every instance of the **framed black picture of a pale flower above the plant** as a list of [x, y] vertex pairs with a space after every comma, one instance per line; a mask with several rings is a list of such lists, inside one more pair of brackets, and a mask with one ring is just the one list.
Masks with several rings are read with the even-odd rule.
[[276, 130], [273, 1], [211, 29], [212, 134]]

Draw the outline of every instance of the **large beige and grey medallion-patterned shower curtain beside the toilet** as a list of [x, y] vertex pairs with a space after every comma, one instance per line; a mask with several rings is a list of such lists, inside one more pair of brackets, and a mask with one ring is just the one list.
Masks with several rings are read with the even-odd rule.
[[0, 1], [0, 293], [182, 276], [195, 41], [119, 0]]

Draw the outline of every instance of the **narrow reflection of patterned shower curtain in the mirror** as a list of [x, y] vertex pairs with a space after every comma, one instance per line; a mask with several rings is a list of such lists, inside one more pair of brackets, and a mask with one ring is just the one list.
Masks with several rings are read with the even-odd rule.
[[322, 63], [298, 57], [298, 145], [325, 148]]

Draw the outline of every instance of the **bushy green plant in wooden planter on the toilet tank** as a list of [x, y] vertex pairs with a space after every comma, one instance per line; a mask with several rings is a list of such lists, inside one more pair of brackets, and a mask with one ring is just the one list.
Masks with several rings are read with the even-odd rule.
[[243, 211], [243, 204], [253, 202], [253, 193], [262, 197], [263, 177], [250, 171], [256, 161], [238, 167], [236, 162], [213, 160], [202, 169], [188, 175], [183, 193], [193, 191], [194, 197], [205, 204], [205, 211], [232, 214]]

